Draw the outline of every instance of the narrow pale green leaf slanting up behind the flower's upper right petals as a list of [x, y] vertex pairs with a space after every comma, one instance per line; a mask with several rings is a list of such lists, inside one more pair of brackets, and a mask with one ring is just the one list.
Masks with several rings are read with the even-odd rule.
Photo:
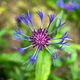
[[50, 24], [50, 27], [48, 28], [48, 32], [51, 33], [58, 25], [60, 20], [62, 19], [63, 11], [61, 11], [53, 20], [53, 22]]

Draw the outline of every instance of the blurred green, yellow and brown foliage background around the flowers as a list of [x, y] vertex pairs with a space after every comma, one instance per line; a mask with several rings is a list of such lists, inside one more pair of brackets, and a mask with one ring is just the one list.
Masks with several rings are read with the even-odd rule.
[[[35, 68], [28, 70], [27, 65], [22, 64], [31, 54], [30, 50], [22, 55], [16, 50], [17, 47], [28, 43], [13, 39], [17, 24], [16, 16], [27, 13], [28, 10], [38, 28], [39, 18], [36, 11], [41, 10], [45, 13], [46, 25], [47, 15], [52, 12], [57, 15], [62, 9], [57, 7], [56, 0], [0, 0], [0, 80], [35, 80]], [[48, 80], [80, 80], [80, 9], [64, 10], [63, 21], [66, 21], [63, 32], [68, 30], [69, 37], [72, 38], [72, 50], [67, 57], [55, 61], [51, 66]], [[25, 28], [23, 30], [26, 32]]]

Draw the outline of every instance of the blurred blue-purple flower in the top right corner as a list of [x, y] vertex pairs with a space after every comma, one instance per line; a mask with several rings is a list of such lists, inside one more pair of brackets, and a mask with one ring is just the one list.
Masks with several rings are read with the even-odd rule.
[[78, 4], [77, 0], [69, 0], [67, 3], [64, 3], [63, 0], [57, 0], [56, 4], [58, 7], [69, 10], [69, 11], [74, 11], [76, 9], [80, 9], [80, 5]]

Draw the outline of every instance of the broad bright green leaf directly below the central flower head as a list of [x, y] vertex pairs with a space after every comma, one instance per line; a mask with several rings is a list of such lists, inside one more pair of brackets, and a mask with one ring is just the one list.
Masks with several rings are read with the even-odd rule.
[[36, 79], [47, 80], [51, 67], [51, 56], [46, 50], [39, 52], [36, 63]]

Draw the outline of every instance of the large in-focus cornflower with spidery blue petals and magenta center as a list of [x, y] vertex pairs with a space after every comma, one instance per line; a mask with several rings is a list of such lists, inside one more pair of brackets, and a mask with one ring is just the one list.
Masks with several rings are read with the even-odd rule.
[[[40, 17], [41, 22], [43, 22], [43, 18], [44, 18], [43, 13], [41, 11], [38, 11], [37, 15]], [[20, 30], [20, 27], [18, 27], [18, 30], [15, 32], [15, 36], [16, 36], [15, 38], [17, 40], [26, 40], [31, 44], [30, 46], [27, 46], [25, 48], [18, 48], [18, 51], [20, 53], [22, 53], [25, 49], [28, 49], [31, 47], [36, 49], [34, 54], [29, 57], [30, 62], [33, 62], [33, 63], [36, 62], [37, 55], [39, 51], [42, 50], [43, 48], [45, 48], [51, 54], [52, 59], [56, 58], [56, 52], [52, 53], [49, 50], [48, 46], [50, 45], [54, 46], [56, 44], [56, 45], [59, 45], [58, 49], [61, 49], [63, 45], [67, 44], [66, 40], [69, 40], [68, 34], [66, 32], [60, 38], [56, 38], [56, 40], [60, 40], [59, 42], [50, 42], [51, 40], [55, 40], [55, 38], [54, 37], [52, 38], [51, 35], [53, 35], [60, 27], [62, 27], [64, 23], [62, 23], [61, 19], [59, 18], [58, 19], [59, 24], [56, 26], [54, 30], [49, 32], [49, 28], [51, 27], [51, 24], [54, 21], [55, 17], [54, 17], [54, 14], [48, 15], [48, 17], [49, 17], [48, 27], [47, 28], [41, 27], [38, 30], [35, 29], [30, 12], [28, 12], [28, 14], [22, 14], [21, 16], [18, 16], [16, 18], [17, 22], [23, 22], [32, 31], [32, 34], [30, 36], [27, 36], [26, 34], [24, 34]], [[23, 38], [21, 36], [25, 36], [25, 37]]]

